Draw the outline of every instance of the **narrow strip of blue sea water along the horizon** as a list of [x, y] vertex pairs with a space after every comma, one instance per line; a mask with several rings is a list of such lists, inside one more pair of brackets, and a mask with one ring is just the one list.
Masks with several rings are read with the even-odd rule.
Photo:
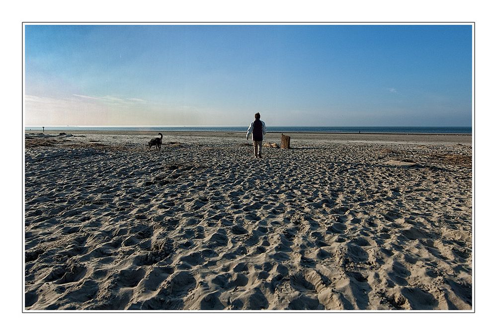
[[[267, 125], [266, 125], [267, 126]], [[247, 132], [248, 127], [45, 127], [45, 131]], [[25, 131], [42, 127], [25, 127]], [[472, 127], [271, 127], [272, 133], [472, 134]]]

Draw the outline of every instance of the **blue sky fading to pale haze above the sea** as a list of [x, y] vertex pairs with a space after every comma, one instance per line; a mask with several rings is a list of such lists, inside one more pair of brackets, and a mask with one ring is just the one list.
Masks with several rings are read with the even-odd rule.
[[472, 25], [24, 26], [24, 125], [471, 126]]

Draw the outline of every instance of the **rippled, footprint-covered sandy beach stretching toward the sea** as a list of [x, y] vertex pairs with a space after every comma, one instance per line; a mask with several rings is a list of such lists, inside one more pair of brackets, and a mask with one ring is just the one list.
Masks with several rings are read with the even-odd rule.
[[472, 309], [471, 136], [164, 134], [27, 132], [26, 310]]

